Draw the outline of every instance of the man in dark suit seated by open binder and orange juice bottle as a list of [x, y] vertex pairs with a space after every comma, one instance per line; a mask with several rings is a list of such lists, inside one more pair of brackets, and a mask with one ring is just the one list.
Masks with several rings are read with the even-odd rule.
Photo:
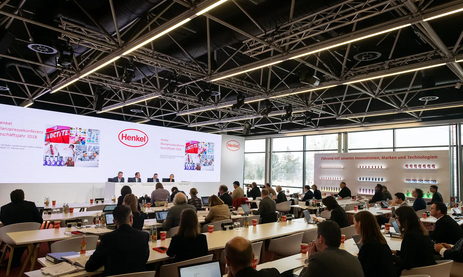
[[100, 245], [88, 259], [85, 270], [92, 272], [105, 266], [105, 276], [145, 271], [150, 257], [149, 234], [132, 228], [132, 211], [120, 205], [113, 211], [117, 229], [101, 236]]

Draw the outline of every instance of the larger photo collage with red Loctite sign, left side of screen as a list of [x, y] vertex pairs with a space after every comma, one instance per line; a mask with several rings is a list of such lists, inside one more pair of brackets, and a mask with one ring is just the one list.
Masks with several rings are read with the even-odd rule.
[[43, 165], [99, 167], [100, 130], [88, 127], [46, 125]]

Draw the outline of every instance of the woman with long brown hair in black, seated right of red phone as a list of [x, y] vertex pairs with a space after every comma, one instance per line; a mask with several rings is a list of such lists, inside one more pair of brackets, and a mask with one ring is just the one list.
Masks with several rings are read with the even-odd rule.
[[201, 234], [198, 216], [192, 209], [185, 209], [180, 214], [180, 226], [177, 234], [172, 236], [166, 254], [175, 257], [175, 262], [207, 256], [207, 238]]

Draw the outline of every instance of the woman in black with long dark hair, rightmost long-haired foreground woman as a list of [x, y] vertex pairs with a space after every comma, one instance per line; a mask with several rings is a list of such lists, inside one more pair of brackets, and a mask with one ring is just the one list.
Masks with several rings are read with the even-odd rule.
[[395, 210], [401, 228], [402, 244], [399, 250], [391, 250], [397, 275], [404, 269], [436, 265], [434, 243], [423, 227], [415, 211], [410, 206], [400, 206]]

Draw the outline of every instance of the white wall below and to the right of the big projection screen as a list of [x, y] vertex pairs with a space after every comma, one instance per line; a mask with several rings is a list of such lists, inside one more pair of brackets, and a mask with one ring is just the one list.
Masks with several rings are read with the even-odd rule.
[[[230, 140], [237, 141], [240, 145], [239, 149], [236, 151], [228, 149], [226, 145]], [[199, 196], [217, 194], [221, 184], [226, 185], [229, 190], [233, 190], [233, 181], [243, 183], [244, 137], [222, 135], [221, 150], [220, 182], [192, 182], [191, 186], [198, 190]], [[10, 193], [18, 188], [24, 190], [26, 200], [33, 202], [42, 203], [45, 197], [50, 197], [50, 201], [56, 200], [57, 203], [84, 203], [91, 198], [102, 198], [104, 196], [104, 182], [106, 180], [101, 180], [101, 183], [57, 183], [59, 180], [54, 180], [53, 176], [50, 176], [47, 181], [50, 182], [0, 184], [0, 206], [9, 203]]]

